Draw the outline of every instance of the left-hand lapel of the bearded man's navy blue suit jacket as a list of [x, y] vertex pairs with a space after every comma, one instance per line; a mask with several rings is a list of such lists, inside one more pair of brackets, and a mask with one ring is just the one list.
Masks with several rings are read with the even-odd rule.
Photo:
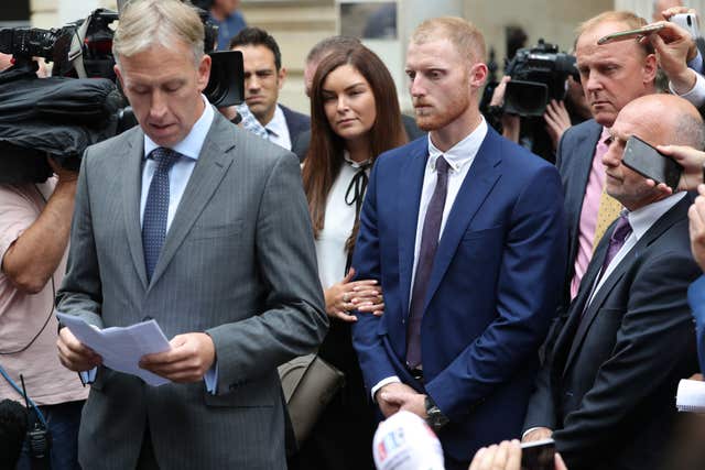
[[414, 266], [416, 222], [423, 177], [429, 160], [429, 140], [421, 139], [411, 146], [399, 172], [399, 281], [402, 313], [409, 315], [411, 274]]

